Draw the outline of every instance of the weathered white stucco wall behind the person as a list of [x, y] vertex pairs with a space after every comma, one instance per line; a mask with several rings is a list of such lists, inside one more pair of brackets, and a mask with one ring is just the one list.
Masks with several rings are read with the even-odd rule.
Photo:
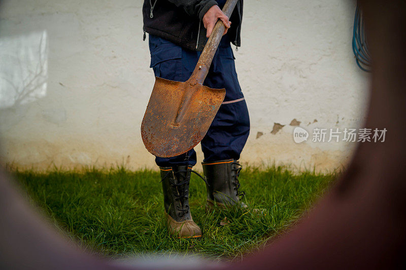
[[[141, 0], [0, 1], [3, 164], [154, 167], [140, 135], [154, 84], [141, 9]], [[246, 0], [244, 9], [234, 55], [251, 134], [241, 161], [345, 164], [354, 143], [296, 144], [289, 124], [362, 124], [368, 78], [351, 49], [355, 4]], [[275, 123], [284, 127], [273, 134]]]

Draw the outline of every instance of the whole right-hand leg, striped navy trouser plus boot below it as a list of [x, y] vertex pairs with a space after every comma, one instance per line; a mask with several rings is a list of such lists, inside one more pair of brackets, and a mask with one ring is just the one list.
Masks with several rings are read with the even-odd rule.
[[219, 49], [205, 81], [210, 88], [225, 88], [226, 97], [210, 126], [201, 147], [205, 155], [202, 163], [208, 185], [208, 207], [239, 204], [240, 183], [238, 163], [250, 132], [247, 104], [238, 82], [234, 56], [227, 36], [222, 38]]

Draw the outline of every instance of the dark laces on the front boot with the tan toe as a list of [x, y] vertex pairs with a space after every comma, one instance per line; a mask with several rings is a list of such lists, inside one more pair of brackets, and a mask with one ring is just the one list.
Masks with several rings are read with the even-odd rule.
[[[173, 195], [175, 196], [175, 200], [180, 202], [181, 207], [177, 206], [176, 209], [179, 211], [178, 216], [183, 217], [187, 213], [189, 213], [189, 205], [185, 204], [185, 199], [189, 198], [188, 192], [186, 191], [185, 185], [189, 183], [190, 181], [190, 176], [191, 174], [187, 174], [188, 170], [179, 170], [176, 173], [186, 173], [185, 180], [183, 180], [180, 183], [175, 183], [175, 173], [173, 171], [168, 171], [165, 174], [165, 177], [163, 179], [168, 179], [170, 182], [171, 186], [174, 187]], [[191, 170], [192, 173], [196, 174], [198, 177], [200, 177], [203, 181], [205, 181], [206, 184], [208, 184], [207, 180], [205, 177], [201, 176], [199, 173], [196, 171]], [[169, 177], [168, 177], [169, 176]], [[172, 177], [171, 177], [172, 176]], [[161, 180], [162, 182], [163, 180]]]

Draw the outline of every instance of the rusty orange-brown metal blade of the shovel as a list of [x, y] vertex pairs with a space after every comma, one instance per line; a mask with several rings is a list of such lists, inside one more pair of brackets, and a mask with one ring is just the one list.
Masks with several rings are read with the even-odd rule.
[[225, 97], [225, 89], [193, 86], [195, 92], [185, 114], [174, 125], [184, 92], [189, 88], [188, 82], [155, 78], [141, 124], [144, 145], [154, 156], [175, 157], [196, 146], [206, 135]]

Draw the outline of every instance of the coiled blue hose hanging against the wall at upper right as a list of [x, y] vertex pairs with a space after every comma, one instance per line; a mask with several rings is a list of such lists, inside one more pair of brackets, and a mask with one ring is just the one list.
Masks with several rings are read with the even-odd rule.
[[368, 51], [368, 42], [365, 37], [364, 18], [358, 6], [355, 10], [352, 50], [359, 68], [363, 71], [371, 72], [371, 58]]

